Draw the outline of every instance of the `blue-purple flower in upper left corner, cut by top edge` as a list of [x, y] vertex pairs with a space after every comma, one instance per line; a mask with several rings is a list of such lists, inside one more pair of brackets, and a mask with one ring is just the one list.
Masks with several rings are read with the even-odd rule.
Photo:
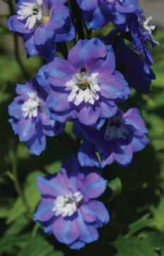
[[55, 42], [75, 37], [67, 0], [19, 0], [17, 14], [8, 20], [8, 28], [23, 37], [28, 55], [52, 60]]

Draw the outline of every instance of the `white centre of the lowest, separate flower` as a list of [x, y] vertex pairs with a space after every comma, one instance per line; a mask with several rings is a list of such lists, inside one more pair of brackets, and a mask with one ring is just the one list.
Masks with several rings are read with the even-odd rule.
[[69, 191], [64, 196], [57, 196], [56, 200], [54, 201], [52, 211], [54, 212], [55, 216], [70, 217], [76, 212], [82, 199], [83, 195], [80, 191], [75, 193]]

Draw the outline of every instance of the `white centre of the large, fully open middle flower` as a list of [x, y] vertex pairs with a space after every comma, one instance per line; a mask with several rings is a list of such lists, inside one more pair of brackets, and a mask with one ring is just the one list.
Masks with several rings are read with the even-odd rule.
[[93, 105], [100, 97], [97, 93], [100, 91], [98, 73], [76, 73], [69, 82], [66, 82], [66, 90], [71, 91], [68, 96], [69, 102], [74, 102], [76, 106], [83, 101]]

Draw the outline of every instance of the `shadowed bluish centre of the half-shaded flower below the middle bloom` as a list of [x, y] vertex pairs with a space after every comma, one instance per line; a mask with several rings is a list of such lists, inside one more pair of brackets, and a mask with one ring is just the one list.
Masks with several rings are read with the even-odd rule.
[[129, 130], [120, 122], [119, 117], [112, 117], [107, 121], [104, 138], [107, 141], [112, 139], [126, 139]]

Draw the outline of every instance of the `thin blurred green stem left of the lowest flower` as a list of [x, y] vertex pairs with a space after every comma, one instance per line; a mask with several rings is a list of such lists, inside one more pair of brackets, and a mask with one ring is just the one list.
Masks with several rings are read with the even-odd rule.
[[25, 199], [25, 196], [23, 195], [23, 191], [21, 189], [21, 184], [18, 179], [18, 161], [17, 161], [17, 151], [13, 151], [13, 160], [12, 160], [12, 173], [13, 173], [13, 183], [16, 188], [16, 192], [18, 193], [18, 196], [21, 198], [23, 205], [25, 206], [27, 212], [30, 212], [30, 209], [28, 207], [28, 203]]

